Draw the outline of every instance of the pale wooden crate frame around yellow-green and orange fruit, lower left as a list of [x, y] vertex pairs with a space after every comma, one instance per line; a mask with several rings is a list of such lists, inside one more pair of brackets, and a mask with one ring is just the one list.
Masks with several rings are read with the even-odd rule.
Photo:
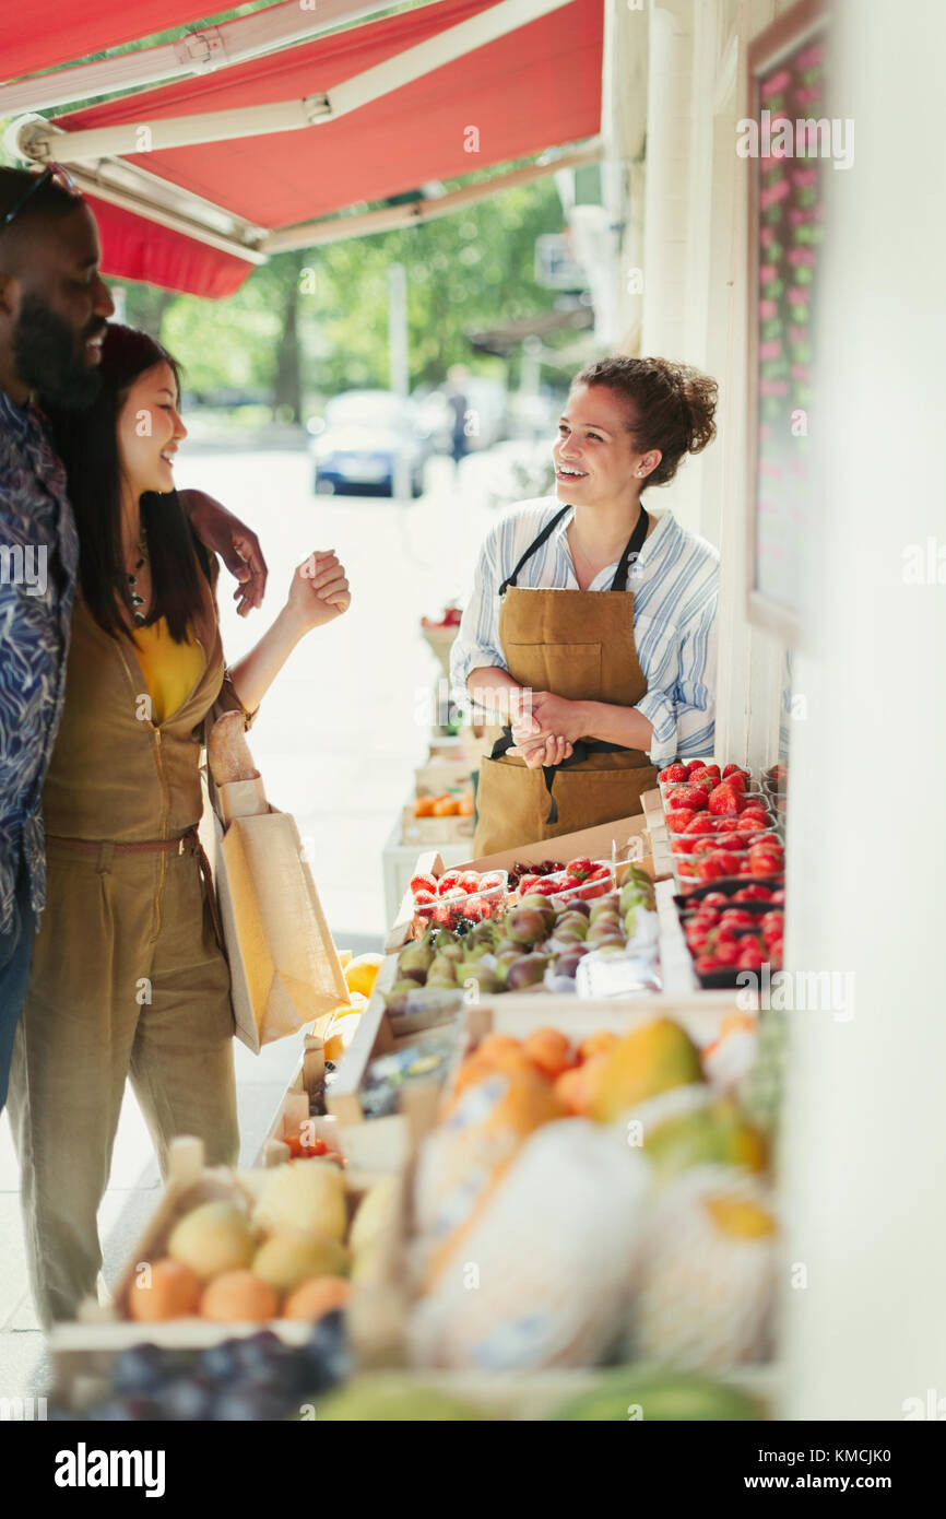
[[[316, 1127], [325, 1135], [337, 1138], [349, 1153], [348, 1135], [345, 1129], [333, 1120], [316, 1120]], [[384, 1141], [390, 1139], [393, 1130], [380, 1130], [378, 1138], [363, 1126], [361, 1144], [355, 1138], [351, 1145], [351, 1156], [371, 1154], [372, 1161], [380, 1157]], [[367, 1148], [371, 1147], [371, 1150]], [[289, 1159], [285, 1145], [279, 1147]], [[326, 1162], [333, 1164], [333, 1162]], [[199, 1139], [179, 1138], [170, 1147], [169, 1173], [164, 1192], [158, 1206], [115, 1284], [112, 1302], [100, 1305], [88, 1300], [82, 1305], [79, 1315], [70, 1323], [56, 1323], [49, 1335], [49, 1347], [53, 1356], [56, 1394], [70, 1394], [76, 1378], [102, 1375], [108, 1370], [112, 1358], [135, 1344], [149, 1343], [161, 1349], [194, 1350], [220, 1344], [235, 1337], [249, 1337], [260, 1329], [270, 1329], [285, 1344], [302, 1344], [311, 1331], [311, 1323], [293, 1318], [270, 1318], [264, 1322], [217, 1322], [191, 1314], [188, 1317], [138, 1322], [126, 1317], [128, 1294], [135, 1281], [135, 1273], [141, 1265], [155, 1261], [166, 1253], [167, 1238], [175, 1223], [191, 1208], [205, 1202], [240, 1200], [252, 1208], [258, 1200], [272, 1168], [254, 1168], [249, 1171], [234, 1171], [229, 1167], [211, 1167], [203, 1164], [203, 1145]], [[392, 1177], [390, 1164], [380, 1170], [363, 1170], [348, 1164], [345, 1173], [345, 1194], [348, 1200], [349, 1221], [361, 1198], [384, 1179]], [[398, 1197], [402, 1197], [404, 1173], [396, 1174]], [[401, 1250], [404, 1246], [401, 1208], [395, 1214], [395, 1226], [381, 1241], [381, 1253], [372, 1285], [354, 1287], [346, 1305], [349, 1331], [352, 1340], [361, 1334], [361, 1314], [367, 1315], [366, 1335], [374, 1334], [374, 1297], [375, 1294], [398, 1294], [404, 1279]]]

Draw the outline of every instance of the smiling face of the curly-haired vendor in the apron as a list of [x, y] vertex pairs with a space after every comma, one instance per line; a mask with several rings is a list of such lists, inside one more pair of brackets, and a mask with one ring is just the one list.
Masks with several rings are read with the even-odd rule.
[[659, 448], [639, 453], [627, 431], [629, 404], [607, 386], [572, 386], [551, 450], [560, 501], [594, 506], [627, 500], [656, 469]]

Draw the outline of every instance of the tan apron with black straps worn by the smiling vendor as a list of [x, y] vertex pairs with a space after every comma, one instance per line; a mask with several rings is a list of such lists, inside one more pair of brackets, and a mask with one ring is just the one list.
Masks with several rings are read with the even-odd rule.
[[[521, 589], [522, 565], [571, 510], [563, 507], [525, 550], [500, 586], [500, 647], [513, 681], [533, 691], [554, 691], [568, 700], [636, 706], [647, 693], [633, 636], [633, 592], [627, 565], [647, 536], [648, 516], [621, 556], [610, 591]], [[521, 845], [556, 838], [580, 828], [630, 817], [641, 796], [657, 782], [657, 769], [641, 749], [600, 740], [572, 746], [560, 766], [530, 770], [504, 753], [512, 735], [480, 761], [474, 855], [500, 854]]]

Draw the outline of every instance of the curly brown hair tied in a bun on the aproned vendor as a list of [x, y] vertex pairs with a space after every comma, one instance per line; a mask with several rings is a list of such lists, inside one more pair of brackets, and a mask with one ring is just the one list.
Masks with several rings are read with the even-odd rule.
[[714, 413], [718, 386], [691, 365], [670, 358], [598, 358], [572, 380], [601, 384], [629, 401], [627, 430], [636, 448], [661, 450], [661, 463], [645, 482], [668, 485], [683, 454], [698, 454], [717, 436]]

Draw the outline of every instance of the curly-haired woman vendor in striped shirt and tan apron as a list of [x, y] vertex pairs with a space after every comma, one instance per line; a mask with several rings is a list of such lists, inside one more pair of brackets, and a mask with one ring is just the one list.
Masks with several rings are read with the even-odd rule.
[[712, 750], [718, 554], [642, 492], [715, 436], [717, 383], [665, 358], [572, 381], [556, 494], [487, 533], [451, 676], [509, 718], [480, 764], [477, 857], [641, 811]]

